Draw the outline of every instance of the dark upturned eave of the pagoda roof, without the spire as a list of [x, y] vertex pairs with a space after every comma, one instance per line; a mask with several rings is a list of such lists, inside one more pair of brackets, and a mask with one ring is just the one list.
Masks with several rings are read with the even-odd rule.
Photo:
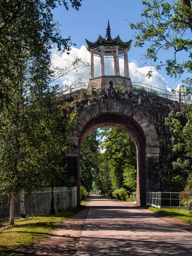
[[131, 40], [128, 41], [128, 42], [122, 42], [121, 39], [119, 38], [119, 35], [108, 41], [106, 40], [105, 38], [102, 38], [100, 35], [99, 35], [99, 38], [97, 39], [97, 41], [95, 42], [90, 42], [88, 41], [87, 39], [85, 39], [86, 43], [87, 43], [87, 50], [90, 51], [90, 49], [95, 49], [95, 48], [98, 48], [100, 47], [101, 45], [103, 45], [104, 47], [109, 47], [109, 46], [115, 46], [115, 45], [118, 45], [119, 47], [121, 48], [124, 48], [124, 49], [130, 49], [130, 46], [131, 46]]

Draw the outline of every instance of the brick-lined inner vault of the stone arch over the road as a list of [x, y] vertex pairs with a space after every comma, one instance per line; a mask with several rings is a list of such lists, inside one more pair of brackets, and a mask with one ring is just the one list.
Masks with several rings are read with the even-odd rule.
[[78, 145], [78, 158], [79, 158], [79, 183], [80, 183], [80, 151], [81, 145], [87, 135], [102, 127], [116, 127], [122, 129], [128, 133], [134, 140], [137, 148], [137, 204], [145, 204], [146, 198], [146, 164], [145, 164], [145, 147], [146, 140], [145, 134], [141, 127], [127, 116], [122, 116], [120, 114], [103, 114], [92, 119], [87, 125], [84, 126], [83, 131], [79, 137]]

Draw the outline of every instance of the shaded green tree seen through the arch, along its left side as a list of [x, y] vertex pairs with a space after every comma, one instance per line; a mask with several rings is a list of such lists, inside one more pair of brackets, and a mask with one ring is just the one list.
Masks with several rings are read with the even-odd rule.
[[99, 132], [92, 131], [81, 146], [81, 184], [90, 192], [99, 169]]

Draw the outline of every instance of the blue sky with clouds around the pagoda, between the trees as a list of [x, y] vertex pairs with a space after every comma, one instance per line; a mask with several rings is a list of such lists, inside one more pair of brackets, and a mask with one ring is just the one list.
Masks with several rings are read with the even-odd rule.
[[[105, 37], [109, 19], [112, 38], [119, 35], [122, 41], [134, 40], [134, 32], [128, 27], [128, 22], [125, 20], [127, 19], [130, 22], [140, 21], [141, 9], [143, 9], [141, 0], [84, 0], [82, 1], [79, 12], [72, 8], [69, 8], [67, 11], [63, 6], [58, 6], [58, 8], [54, 10], [54, 19], [58, 20], [58, 23], [61, 24], [62, 36], [64, 38], [70, 36], [72, 42], [76, 44], [74, 47], [76, 49], [73, 49], [69, 58], [73, 60], [75, 55], [79, 55], [84, 61], [89, 61], [90, 53], [86, 52], [85, 47], [82, 47], [85, 45], [85, 38], [89, 41], [96, 41], [99, 35]], [[145, 78], [147, 70], [142, 69], [144, 61], [140, 60], [140, 58], [141, 55], [145, 53], [146, 47], [136, 48], [134, 47], [134, 42], [131, 45], [131, 49], [128, 52], [131, 81], [143, 81], [147, 84], [162, 87], [163, 89], [166, 89], [166, 87], [176, 88], [181, 82], [181, 79], [175, 81], [174, 78], [167, 76], [163, 69], [154, 73], [152, 79], [148, 80]], [[159, 56], [160, 60], [163, 62], [169, 54], [170, 52], [163, 52], [163, 54]], [[62, 58], [65, 57], [68, 58], [66, 55], [62, 55], [56, 51], [52, 55], [55, 65], [58, 66], [62, 66]], [[121, 64], [123, 64], [123, 61], [120, 61], [120, 65]], [[96, 60], [95, 63], [96, 70], [97, 65], [99, 65], [99, 60]], [[151, 63], [148, 62], [148, 65], [151, 65]], [[110, 70], [113, 69], [112, 62], [106, 61], [105, 66], [107, 66], [106, 72], [110, 72]], [[85, 74], [81, 71], [80, 74], [83, 80], [88, 81], [88, 73]], [[70, 79], [72, 79], [72, 77], [67, 78], [67, 80]]]

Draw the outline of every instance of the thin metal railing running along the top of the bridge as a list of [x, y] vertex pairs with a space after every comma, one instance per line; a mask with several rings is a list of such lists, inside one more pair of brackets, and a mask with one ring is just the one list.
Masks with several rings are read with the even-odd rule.
[[[102, 88], [102, 90], [107, 91], [109, 86], [110, 84], [96, 84], [91, 88], [91, 90], [99, 91]], [[127, 84], [122, 83], [121, 86], [123, 88], [123, 91], [125, 91], [125, 87], [127, 87]], [[74, 87], [66, 88], [66, 90], [61, 91], [60, 94], [75, 96], [75, 95], [79, 95], [80, 90], [83, 90], [83, 92], [86, 92], [86, 93], [90, 93], [87, 87], [88, 85], [86, 85], [86, 83], [83, 82], [82, 84], [77, 84]], [[119, 88], [119, 84], [113, 84], [113, 88], [117, 90]], [[186, 96], [184, 89], [181, 90], [180, 93], [172, 93], [169, 90], [163, 90], [161, 88], [154, 87], [149, 84], [144, 84], [141, 82], [132, 82], [132, 87], [126, 90], [132, 91], [134, 93], [143, 93], [144, 95], [149, 95], [149, 96], [160, 96], [164, 99], [169, 99], [171, 101], [177, 101], [177, 102], [182, 102], [186, 104], [192, 103], [192, 95]]]

